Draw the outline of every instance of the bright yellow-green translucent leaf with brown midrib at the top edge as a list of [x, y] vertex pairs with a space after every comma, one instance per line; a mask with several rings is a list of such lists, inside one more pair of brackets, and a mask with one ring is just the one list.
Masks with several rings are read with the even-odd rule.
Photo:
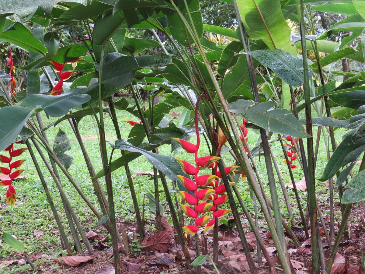
[[280, 0], [237, 1], [239, 14], [251, 39], [262, 39], [269, 49], [282, 49], [296, 56], [291, 31], [281, 11]]

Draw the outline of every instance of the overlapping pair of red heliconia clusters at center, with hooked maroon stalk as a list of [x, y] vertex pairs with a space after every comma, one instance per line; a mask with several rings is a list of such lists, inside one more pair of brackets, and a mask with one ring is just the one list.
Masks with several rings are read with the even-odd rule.
[[[219, 205], [223, 205], [228, 201], [226, 189], [223, 184], [219, 185], [219, 179], [222, 178], [221, 171], [218, 171], [217, 161], [220, 157], [216, 156], [203, 156], [198, 157], [198, 151], [200, 146], [199, 127], [198, 127], [198, 110], [199, 105], [198, 98], [195, 110], [195, 132], [197, 142], [196, 145], [191, 142], [185, 141], [179, 138], [173, 138], [180, 146], [188, 153], [194, 154], [195, 165], [188, 163], [187, 161], [176, 159], [183, 168], [184, 172], [188, 175], [193, 175], [194, 180], [187, 177], [178, 175], [181, 183], [189, 190], [193, 191], [193, 194], [186, 191], [178, 191], [181, 198], [185, 200], [189, 205], [180, 205], [181, 209], [189, 217], [194, 218], [195, 224], [185, 225], [183, 230], [185, 234], [195, 235], [199, 227], [204, 226], [204, 232], [214, 227], [215, 219], [225, 216], [230, 213], [230, 209], [218, 209]], [[214, 168], [215, 175], [205, 174], [199, 175], [199, 168]], [[237, 166], [227, 167], [224, 169], [226, 174], [233, 172]], [[200, 190], [199, 190], [200, 189]], [[190, 207], [193, 206], [193, 208]], [[212, 212], [212, 217], [208, 216], [209, 212]], [[200, 216], [202, 214], [203, 216]], [[209, 214], [210, 215], [210, 214]]]

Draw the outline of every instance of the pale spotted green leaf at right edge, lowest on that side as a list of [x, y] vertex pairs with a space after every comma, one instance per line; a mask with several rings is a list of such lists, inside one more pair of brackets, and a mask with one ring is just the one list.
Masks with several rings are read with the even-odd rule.
[[365, 199], [365, 170], [360, 171], [345, 186], [341, 203], [356, 203]]

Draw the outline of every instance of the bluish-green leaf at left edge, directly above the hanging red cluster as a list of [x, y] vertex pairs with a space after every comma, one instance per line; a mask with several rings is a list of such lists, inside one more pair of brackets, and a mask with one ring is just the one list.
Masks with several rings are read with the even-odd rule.
[[0, 109], [0, 151], [14, 142], [32, 114], [32, 107], [5, 106]]

